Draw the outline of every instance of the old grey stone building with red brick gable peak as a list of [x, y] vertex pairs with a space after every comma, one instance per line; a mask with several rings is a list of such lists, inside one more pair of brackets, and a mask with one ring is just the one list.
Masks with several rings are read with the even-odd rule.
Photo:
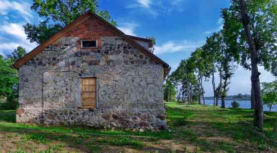
[[13, 65], [19, 68], [16, 122], [166, 128], [163, 81], [170, 67], [92, 12]]

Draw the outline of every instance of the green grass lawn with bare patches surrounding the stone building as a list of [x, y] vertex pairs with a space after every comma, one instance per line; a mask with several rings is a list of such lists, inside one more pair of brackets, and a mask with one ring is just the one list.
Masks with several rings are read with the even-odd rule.
[[277, 113], [265, 113], [263, 133], [252, 110], [166, 103], [166, 111], [173, 132], [43, 127], [0, 111], [0, 153], [277, 153]]

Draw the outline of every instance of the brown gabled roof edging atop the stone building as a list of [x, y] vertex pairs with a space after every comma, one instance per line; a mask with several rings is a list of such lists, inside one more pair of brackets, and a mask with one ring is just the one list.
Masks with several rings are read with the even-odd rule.
[[124, 38], [128, 43], [132, 44], [134, 47], [136, 47], [142, 53], [144, 53], [145, 55], [149, 56], [149, 58], [151, 58], [154, 61], [157, 61], [158, 63], [163, 64], [163, 66], [164, 66], [164, 77], [167, 76], [167, 74], [170, 71], [170, 66], [166, 62], [164, 62], [163, 60], [161, 60], [160, 58], [155, 56], [153, 53], [149, 52], [147, 49], [142, 47], [138, 42], [136, 42], [136, 40], [134, 40], [134, 39], [140, 39], [140, 40], [143, 39], [143, 41], [149, 41], [150, 39], [145, 39], [145, 38], [140, 38], [140, 37], [126, 35], [124, 32], [118, 30], [116, 27], [114, 27], [113, 25], [111, 25], [110, 23], [108, 23], [107, 21], [105, 21], [104, 19], [102, 19], [101, 17], [99, 17], [98, 15], [96, 15], [95, 13], [93, 13], [91, 11], [88, 11], [88, 12], [84, 13], [83, 15], [81, 15], [80, 17], [78, 17], [76, 20], [74, 20], [72, 23], [68, 24], [61, 31], [59, 31], [55, 35], [51, 36], [43, 44], [39, 45], [38, 47], [33, 49], [30, 53], [26, 54], [23, 58], [21, 58], [18, 61], [16, 61], [12, 66], [14, 68], [19, 68], [25, 62], [31, 60], [33, 57], [35, 57], [36, 55], [41, 53], [47, 46], [49, 46], [52, 43], [54, 43], [57, 39], [62, 37], [68, 31], [70, 31], [73, 28], [77, 27], [79, 24], [81, 24], [83, 21], [87, 20], [90, 17], [93, 17], [94, 19], [101, 21], [105, 26], [107, 26], [107, 28], [109, 28], [111, 31], [113, 31], [116, 34], [118, 34], [118, 36]]

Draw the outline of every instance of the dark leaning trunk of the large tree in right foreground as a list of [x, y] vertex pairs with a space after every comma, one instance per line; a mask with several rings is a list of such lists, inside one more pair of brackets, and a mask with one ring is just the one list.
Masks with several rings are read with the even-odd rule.
[[254, 126], [259, 127], [263, 130], [263, 102], [262, 102], [262, 93], [261, 93], [261, 85], [260, 85], [260, 72], [258, 70], [258, 52], [256, 50], [256, 45], [254, 43], [253, 37], [250, 31], [249, 25], [249, 16], [246, 13], [245, 1], [240, 0], [240, 13], [242, 18], [242, 24], [244, 28], [246, 42], [249, 46], [250, 50], [250, 58], [251, 58], [251, 83], [253, 85], [253, 93], [254, 93]]

